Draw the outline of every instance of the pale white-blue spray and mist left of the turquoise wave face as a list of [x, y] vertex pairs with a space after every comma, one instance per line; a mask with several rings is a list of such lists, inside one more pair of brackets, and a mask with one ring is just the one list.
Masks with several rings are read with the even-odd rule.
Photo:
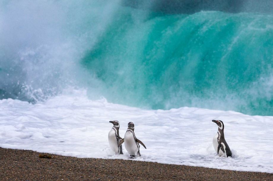
[[117, 6], [118, 1], [2, 1], [0, 98], [36, 102], [66, 87], [96, 85], [80, 61]]

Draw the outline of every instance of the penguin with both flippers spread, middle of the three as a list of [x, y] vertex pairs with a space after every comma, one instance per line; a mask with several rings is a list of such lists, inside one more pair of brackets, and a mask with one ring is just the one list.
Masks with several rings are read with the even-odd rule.
[[128, 129], [124, 135], [124, 138], [118, 144], [118, 146], [120, 146], [124, 142], [125, 148], [131, 157], [141, 156], [139, 152], [139, 143], [142, 144], [142, 146], [144, 146], [144, 148], [146, 149], [146, 146], [139, 139], [136, 138], [136, 135], [134, 133], [134, 127], [134, 123], [128, 123]]

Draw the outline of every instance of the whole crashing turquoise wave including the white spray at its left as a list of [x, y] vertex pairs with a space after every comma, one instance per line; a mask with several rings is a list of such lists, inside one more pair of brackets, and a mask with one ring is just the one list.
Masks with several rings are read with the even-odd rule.
[[76, 87], [141, 108], [273, 115], [270, 13], [172, 14], [119, 1], [0, 7], [0, 98], [35, 103]]

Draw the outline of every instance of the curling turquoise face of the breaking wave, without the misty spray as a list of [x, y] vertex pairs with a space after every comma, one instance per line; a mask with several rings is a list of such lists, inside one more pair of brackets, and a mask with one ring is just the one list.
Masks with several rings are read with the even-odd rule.
[[106, 83], [107, 99], [272, 115], [271, 15], [142, 14], [118, 12], [82, 60]]

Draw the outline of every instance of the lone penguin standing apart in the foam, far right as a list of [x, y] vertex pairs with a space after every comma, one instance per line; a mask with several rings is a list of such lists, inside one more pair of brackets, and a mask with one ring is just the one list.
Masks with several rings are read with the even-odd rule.
[[215, 122], [218, 125], [218, 132], [212, 139], [213, 147], [216, 153], [219, 156], [226, 155], [226, 157], [229, 157], [229, 156], [232, 157], [231, 150], [228, 146], [228, 143], [226, 143], [226, 140], [225, 140], [223, 121], [212, 120], [212, 122]]

